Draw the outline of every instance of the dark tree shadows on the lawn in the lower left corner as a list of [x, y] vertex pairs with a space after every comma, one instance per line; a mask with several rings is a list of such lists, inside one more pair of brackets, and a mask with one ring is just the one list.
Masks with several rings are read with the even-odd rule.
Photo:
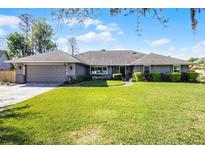
[[28, 105], [7, 109], [0, 111], [0, 144], [25, 144], [29, 141], [28, 136], [19, 128], [8, 126], [3, 123], [3, 120], [9, 120], [9, 118], [23, 118], [29, 113], [18, 112], [20, 110], [29, 108]]

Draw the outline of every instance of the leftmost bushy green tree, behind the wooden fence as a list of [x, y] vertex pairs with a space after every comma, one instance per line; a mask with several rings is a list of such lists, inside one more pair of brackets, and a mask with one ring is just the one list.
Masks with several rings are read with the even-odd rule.
[[26, 56], [25, 37], [21, 33], [11, 33], [7, 37], [7, 46], [11, 58], [19, 58]]

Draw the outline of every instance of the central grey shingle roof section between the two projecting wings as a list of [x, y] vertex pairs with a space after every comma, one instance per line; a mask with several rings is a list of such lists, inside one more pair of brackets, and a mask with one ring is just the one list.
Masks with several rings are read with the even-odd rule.
[[129, 65], [145, 54], [132, 50], [87, 51], [76, 55], [89, 65]]

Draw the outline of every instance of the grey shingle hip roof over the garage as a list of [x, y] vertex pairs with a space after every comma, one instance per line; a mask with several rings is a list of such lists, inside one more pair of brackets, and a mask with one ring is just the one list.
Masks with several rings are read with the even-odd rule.
[[23, 63], [23, 62], [72, 62], [72, 63], [81, 63], [80, 60], [71, 56], [70, 54], [61, 51], [55, 50], [38, 55], [27, 56], [23, 58], [18, 58], [14, 60], [7, 61], [9, 63]]

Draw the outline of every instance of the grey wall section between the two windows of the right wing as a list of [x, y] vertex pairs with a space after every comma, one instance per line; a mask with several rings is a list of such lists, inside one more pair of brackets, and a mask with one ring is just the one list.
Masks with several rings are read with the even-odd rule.
[[169, 73], [173, 71], [171, 65], [153, 65], [151, 66], [151, 72]]

